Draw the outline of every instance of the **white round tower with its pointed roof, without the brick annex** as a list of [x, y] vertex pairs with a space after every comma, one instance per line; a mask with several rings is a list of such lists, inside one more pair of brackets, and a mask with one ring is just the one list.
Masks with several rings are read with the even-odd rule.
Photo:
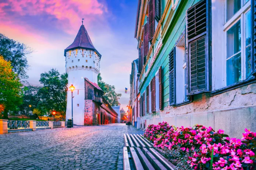
[[[68, 87], [75, 86], [73, 92], [73, 121], [76, 125], [84, 125], [85, 114], [85, 78], [97, 84], [100, 72], [100, 53], [82, 24], [74, 42], [64, 50]], [[67, 94], [66, 120], [71, 119], [71, 90]]]

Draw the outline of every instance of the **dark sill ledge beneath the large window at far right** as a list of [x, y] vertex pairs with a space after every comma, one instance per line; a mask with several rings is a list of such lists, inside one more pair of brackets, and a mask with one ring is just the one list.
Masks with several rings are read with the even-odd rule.
[[231, 84], [229, 86], [226, 86], [224, 88], [214, 90], [210, 94], [211, 94], [211, 96], [218, 95], [220, 93], [224, 93], [224, 92], [227, 92], [227, 91], [230, 91], [230, 90], [233, 90], [233, 89], [237, 89], [239, 87], [246, 86], [246, 85], [249, 85], [249, 84], [252, 84], [252, 83], [255, 83], [255, 82], [256, 82], [256, 78], [251, 77], [251, 78], [248, 78], [248, 80], [246, 80], [246, 81], [240, 81], [240, 82], [237, 82], [235, 84]]

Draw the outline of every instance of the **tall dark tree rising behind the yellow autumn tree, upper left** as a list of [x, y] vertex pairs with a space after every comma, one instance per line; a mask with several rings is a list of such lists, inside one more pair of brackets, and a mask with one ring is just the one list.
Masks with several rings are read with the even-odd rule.
[[0, 33], [0, 55], [6, 61], [11, 62], [12, 70], [19, 78], [28, 78], [26, 71], [29, 65], [26, 55], [32, 52], [32, 49], [25, 44], [14, 41]]

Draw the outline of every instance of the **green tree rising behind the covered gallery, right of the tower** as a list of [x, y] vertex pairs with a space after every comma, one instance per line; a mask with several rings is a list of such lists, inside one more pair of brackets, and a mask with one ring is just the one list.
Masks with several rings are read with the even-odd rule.
[[115, 86], [105, 83], [102, 80], [100, 73], [98, 74], [98, 85], [104, 92], [104, 98], [111, 104], [111, 106], [117, 106], [119, 104], [118, 99], [120, 99], [122, 94], [115, 92]]

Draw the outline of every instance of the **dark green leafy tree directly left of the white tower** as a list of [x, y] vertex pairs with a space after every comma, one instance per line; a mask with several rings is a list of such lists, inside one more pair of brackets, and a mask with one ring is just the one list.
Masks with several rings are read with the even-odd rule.
[[66, 114], [67, 108], [67, 84], [68, 74], [60, 74], [58, 70], [51, 69], [40, 75], [40, 83], [43, 85], [39, 93], [42, 99], [42, 106], [48, 111]]

